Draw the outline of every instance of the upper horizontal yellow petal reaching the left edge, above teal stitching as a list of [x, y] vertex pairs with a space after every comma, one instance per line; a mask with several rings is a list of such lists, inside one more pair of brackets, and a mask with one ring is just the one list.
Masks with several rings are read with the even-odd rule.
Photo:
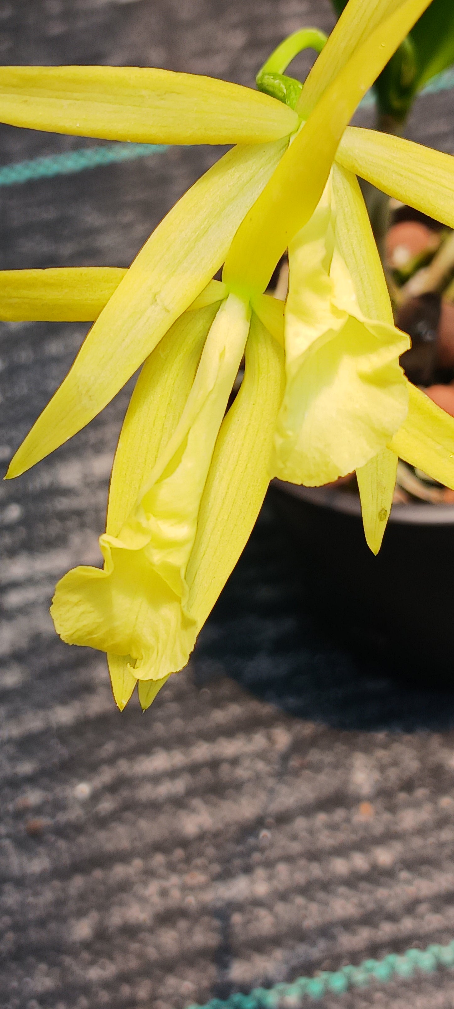
[[0, 121], [145, 143], [263, 143], [292, 133], [293, 109], [260, 91], [141, 67], [2, 67]]

